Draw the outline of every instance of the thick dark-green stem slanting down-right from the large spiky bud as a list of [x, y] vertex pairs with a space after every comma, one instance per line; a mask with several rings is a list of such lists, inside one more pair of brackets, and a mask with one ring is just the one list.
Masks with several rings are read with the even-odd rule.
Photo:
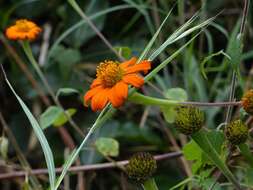
[[220, 158], [217, 151], [214, 149], [209, 139], [207, 138], [204, 131], [199, 131], [194, 133], [192, 139], [199, 145], [202, 151], [206, 154], [206, 156], [221, 170], [221, 172], [226, 176], [226, 178], [233, 183], [237, 190], [241, 190], [240, 184], [236, 180], [233, 173], [226, 166], [224, 161]]

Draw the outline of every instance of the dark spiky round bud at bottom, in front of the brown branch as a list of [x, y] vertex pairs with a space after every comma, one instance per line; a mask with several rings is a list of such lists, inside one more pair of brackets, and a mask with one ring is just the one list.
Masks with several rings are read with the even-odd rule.
[[143, 182], [150, 178], [156, 171], [156, 160], [146, 152], [134, 154], [126, 166], [126, 172], [129, 178]]

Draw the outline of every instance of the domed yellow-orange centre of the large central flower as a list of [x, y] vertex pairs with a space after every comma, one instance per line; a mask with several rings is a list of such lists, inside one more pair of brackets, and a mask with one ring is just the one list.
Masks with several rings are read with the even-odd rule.
[[97, 67], [97, 78], [102, 80], [104, 87], [112, 87], [122, 79], [123, 72], [118, 62], [105, 61]]

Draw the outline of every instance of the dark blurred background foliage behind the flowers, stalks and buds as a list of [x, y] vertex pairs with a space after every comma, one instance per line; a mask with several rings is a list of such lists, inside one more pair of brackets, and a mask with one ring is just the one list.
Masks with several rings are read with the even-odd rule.
[[[200, 20], [219, 14], [200, 37], [151, 82], [164, 93], [168, 89], [180, 87], [186, 91], [190, 101], [215, 102], [228, 99], [232, 67], [227, 58], [218, 55], [205, 63], [207, 79], [201, 74], [200, 65], [205, 57], [213, 53], [220, 50], [230, 51], [233, 39], [239, 31], [240, 23], [238, 21], [241, 18], [243, 1], [78, 0], [77, 2], [97, 28], [125, 58], [140, 54], [173, 5], [175, 7], [172, 14], [160, 33], [154, 49], [159, 47], [161, 42], [165, 41], [171, 33], [197, 11], [200, 12]], [[250, 10], [252, 8], [251, 4]], [[245, 89], [252, 88], [252, 17], [253, 12], [250, 11], [244, 36], [243, 60], [240, 65], [241, 77], [236, 88], [237, 98], [241, 97]], [[0, 63], [4, 64], [9, 80], [37, 118], [48, 106], [38, 96], [37, 90], [33, 88], [31, 81], [27, 79], [17, 61], [22, 62], [22, 65], [32, 73], [33, 79], [39, 83], [42, 90], [45, 93], [46, 91], [18, 43], [6, 41], [3, 37], [5, 28], [19, 18], [31, 19], [43, 28], [43, 34], [32, 43], [33, 52], [55, 92], [61, 88], [77, 90], [77, 93], [60, 94], [59, 99], [66, 109], [74, 108], [76, 110], [73, 119], [83, 131], [87, 130], [97, 114], [93, 113], [90, 108], [83, 106], [82, 96], [95, 77], [96, 65], [103, 60], [114, 60], [116, 57], [96, 33], [81, 20], [67, 1], [0, 0]], [[153, 62], [153, 65], [157, 65], [175, 52], [184, 44], [184, 40], [186, 39], [169, 46]], [[15, 58], [15, 55], [18, 58]], [[1, 113], [32, 168], [43, 168], [45, 162], [41, 148], [15, 97], [2, 79], [1, 76]], [[149, 85], [146, 85], [142, 91], [152, 96], [161, 96], [159, 91]], [[204, 109], [204, 111], [206, 113], [206, 127], [216, 128], [224, 121], [225, 109], [214, 107]], [[240, 113], [240, 110], [235, 110], [235, 116]], [[128, 159], [134, 152], [139, 151], [149, 151], [153, 154], [176, 151], [177, 149], [171, 143], [171, 138], [180, 147], [187, 142], [187, 138], [178, 135], [173, 124], [165, 123], [162, 117], [158, 108], [126, 103], [120, 108], [117, 115], [89, 140], [88, 148], [81, 152], [81, 163], [93, 164], [105, 161], [105, 157], [95, 148], [95, 138], [98, 137], [110, 137], [119, 142], [120, 151], [115, 160]], [[82, 137], [68, 124], [63, 127], [71, 134], [75, 144], [80, 144]], [[66, 145], [56, 127], [45, 129], [45, 133], [52, 147], [56, 165], [61, 166], [64, 162], [63, 153]], [[4, 135], [4, 132], [2, 134]], [[8, 149], [8, 159], [5, 161], [9, 164], [18, 163], [11, 144]], [[200, 171], [196, 184], [193, 184], [194, 187], [208, 189], [214, 179], [205, 178], [205, 175], [208, 175], [207, 171]], [[238, 172], [240, 175], [240, 170]], [[124, 175], [119, 175], [119, 173], [116, 169], [85, 172], [86, 189], [138, 189], [138, 186], [126, 180]], [[248, 171], [248, 173], [250, 175], [252, 171]], [[155, 175], [161, 190], [169, 189], [186, 177], [184, 167], [179, 159], [159, 162]], [[71, 175], [70, 179], [70, 187], [75, 189], [76, 175]], [[3, 180], [0, 181], [0, 186], [3, 190], [14, 190], [19, 189], [18, 184], [20, 183], [22, 184], [22, 180]], [[216, 189], [223, 189], [223, 187], [217, 186]]]

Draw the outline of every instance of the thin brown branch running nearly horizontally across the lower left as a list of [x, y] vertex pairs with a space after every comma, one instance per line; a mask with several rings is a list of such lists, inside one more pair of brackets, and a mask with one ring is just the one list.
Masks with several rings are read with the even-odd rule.
[[[179, 156], [182, 156], [182, 152], [180, 152], [180, 151], [156, 155], [156, 156], [154, 156], [154, 158], [157, 161], [159, 161], [159, 160], [164, 160], [164, 159], [173, 159], [173, 158], [177, 158]], [[108, 163], [102, 163], [102, 164], [73, 166], [73, 167], [70, 167], [68, 171], [76, 173], [76, 172], [89, 171], [89, 170], [101, 170], [101, 169], [115, 168], [117, 166], [124, 166], [126, 164], [128, 164], [128, 160], [118, 161], [115, 163], [108, 162]], [[56, 173], [61, 173], [61, 172], [62, 172], [62, 168], [56, 168]], [[10, 173], [1, 173], [0, 180], [25, 177], [25, 175], [27, 175], [27, 174], [43, 175], [43, 174], [47, 174], [47, 173], [48, 173], [48, 170], [46, 168], [34, 169], [34, 170], [31, 170], [29, 173], [26, 171], [15, 171], [15, 172], [10, 172]]]

